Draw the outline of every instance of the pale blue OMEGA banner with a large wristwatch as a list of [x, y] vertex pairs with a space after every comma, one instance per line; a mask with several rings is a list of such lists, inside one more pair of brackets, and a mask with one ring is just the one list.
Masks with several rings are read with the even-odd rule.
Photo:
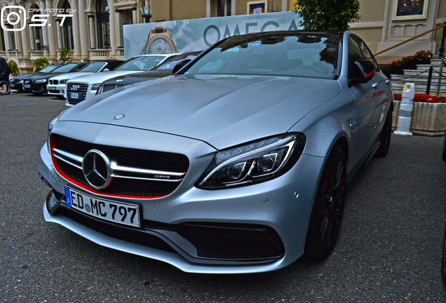
[[236, 15], [124, 25], [126, 60], [149, 53], [185, 53], [205, 50], [215, 42], [238, 34], [299, 29], [294, 12]]

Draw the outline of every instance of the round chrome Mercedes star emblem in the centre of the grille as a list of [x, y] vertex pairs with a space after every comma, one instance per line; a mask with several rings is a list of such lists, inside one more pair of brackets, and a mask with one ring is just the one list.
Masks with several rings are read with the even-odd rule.
[[82, 172], [94, 189], [107, 187], [112, 175], [109, 159], [97, 149], [90, 149], [83, 157]]

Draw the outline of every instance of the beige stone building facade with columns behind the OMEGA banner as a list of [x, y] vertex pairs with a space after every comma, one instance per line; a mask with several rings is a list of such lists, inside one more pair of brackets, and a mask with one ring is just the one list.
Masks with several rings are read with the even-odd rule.
[[[421, 15], [398, 16], [397, 5], [403, 2], [424, 4]], [[14, 16], [7, 19], [5, 11], [4, 27], [0, 29], [0, 55], [18, 63], [20, 72], [31, 71], [36, 58], [57, 62], [62, 48], [72, 52], [75, 62], [123, 59], [123, 25], [145, 22], [140, 13], [142, 7], [151, 8], [150, 22], [161, 22], [245, 15], [257, 4], [264, 5], [262, 12], [292, 11], [294, 0], [4, 0], [0, 1], [0, 8], [25, 8], [26, 21], [25, 18], [17, 21]], [[444, 0], [360, 0], [360, 4], [361, 20], [351, 25], [351, 30], [362, 36], [373, 52], [446, 21]], [[73, 16], [64, 17], [70, 10]], [[20, 15], [20, 9], [15, 12]], [[43, 18], [45, 14], [48, 16]], [[32, 26], [42, 19], [46, 19], [46, 26]], [[380, 55], [378, 60], [388, 62], [421, 49], [438, 53], [440, 39], [441, 31], [426, 34]]]

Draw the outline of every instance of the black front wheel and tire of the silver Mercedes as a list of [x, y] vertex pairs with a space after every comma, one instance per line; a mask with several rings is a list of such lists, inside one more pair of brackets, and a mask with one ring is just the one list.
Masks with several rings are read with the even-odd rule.
[[346, 197], [346, 160], [339, 145], [328, 156], [320, 178], [306, 234], [304, 257], [323, 261], [329, 257], [341, 231]]

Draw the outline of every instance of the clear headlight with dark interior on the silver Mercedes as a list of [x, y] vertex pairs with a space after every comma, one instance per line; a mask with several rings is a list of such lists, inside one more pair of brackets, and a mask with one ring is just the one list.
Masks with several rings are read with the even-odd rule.
[[217, 152], [197, 187], [217, 189], [278, 177], [296, 163], [305, 142], [303, 134], [284, 134]]

